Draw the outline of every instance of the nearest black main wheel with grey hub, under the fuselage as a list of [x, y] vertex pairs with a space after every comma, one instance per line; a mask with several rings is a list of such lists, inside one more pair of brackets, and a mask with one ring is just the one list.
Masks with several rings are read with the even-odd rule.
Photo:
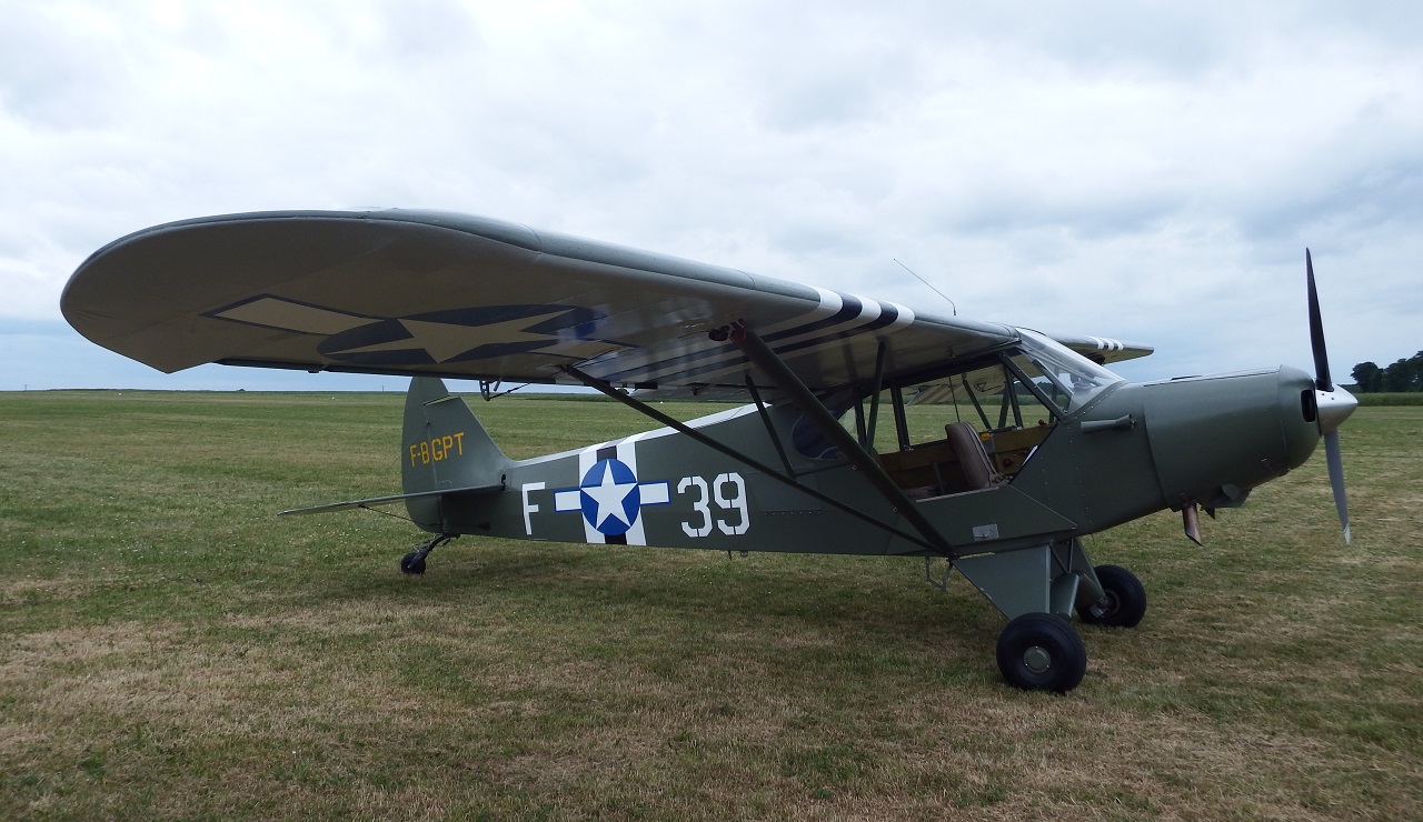
[[998, 670], [1015, 688], [1064, 694], [1087, 673], [1087, 646], [1059, 616], [1026, 613], [999, 634]]

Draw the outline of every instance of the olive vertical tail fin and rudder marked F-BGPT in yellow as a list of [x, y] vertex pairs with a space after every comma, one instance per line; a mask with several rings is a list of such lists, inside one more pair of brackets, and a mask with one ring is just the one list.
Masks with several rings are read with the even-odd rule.
[[[464, 400], [450, 394], [444, 381], [435, 377], [410, 380], [401, 442], [406, 493], [497, 486], [511, 465]], [[420, 502], [435, 503], [437, 498]], [[411, 515], [416, 515], [414, 505]]]

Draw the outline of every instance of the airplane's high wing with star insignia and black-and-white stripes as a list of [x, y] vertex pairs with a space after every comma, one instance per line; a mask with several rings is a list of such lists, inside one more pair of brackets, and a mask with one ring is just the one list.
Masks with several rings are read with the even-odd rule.
[[[726, 330], [746, 323], [811, 390], [916, 371], [1017, 338], [672, 256], [445, 212], [263, 212], [115, 240], [65, 286], [94, 343], [172, 373], [203, 363], [581, 384], [660, 395], [744, 391]], [[1097, 361], [1151, 353], [1063, 338]], [[710, 390], [710, 391], [709, 391]]]

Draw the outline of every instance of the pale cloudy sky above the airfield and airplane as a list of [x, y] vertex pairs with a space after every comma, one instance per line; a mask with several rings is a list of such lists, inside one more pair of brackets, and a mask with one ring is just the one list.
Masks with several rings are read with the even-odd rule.
[[1423, 4], [0, 0], [0, 390], [398, 388], [70, 330], [199, 215], [438, 208], [1044, 331], [1423, 348]]

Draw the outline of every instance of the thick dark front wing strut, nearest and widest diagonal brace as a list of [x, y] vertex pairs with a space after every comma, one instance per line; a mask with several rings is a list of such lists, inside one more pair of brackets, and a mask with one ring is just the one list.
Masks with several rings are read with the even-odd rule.
[[820, 401], [815, 394], [800, 381], [800, 377], [791, 371], [785, 361], [781, 360], [776, 351], [771, 350], [756, 331], [747, 329], [746, 326], [736, 326], [731, 331], [731, 340], [741, 348], [741, 353], [756, 364], [757, 368], [766, 374], [777, 388], [785, 391], [785, 394], [795, 402], [795, 407], [805, 414], [805, 418], [815, 425], [815, 428], [825, 435], [832, 444], [840, 448], [840, 452], [850, 458], [850, 462], [865, 475], [865, 479], [875, 486], [875, 491], [889, 502], [895, 513], [905, 518], [909, 525], [914, 526], [921, 535], [922, 540], [915, 540], [919, 543], [928, 542], [936, 552], [951, 556], [953, 550], [949, 548], [948, 540], [939, 535], [939, 530], [919, 513], [915, 508], [914, 501], [909, 499], [904, 489], [895, 484], [894, 479], [885, 474], [885, 469], [855, 437], [851, 437], [848, 431], [840, 427], [840, 421], [835, 415], [825, 408], [825, 404]]

